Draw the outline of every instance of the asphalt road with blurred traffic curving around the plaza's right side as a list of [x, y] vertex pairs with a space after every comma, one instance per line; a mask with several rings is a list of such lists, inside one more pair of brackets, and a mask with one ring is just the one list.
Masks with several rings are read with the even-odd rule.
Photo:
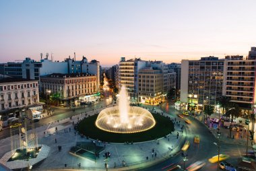
[[[177, 110], [168, 107], [168, 105], [163, 104], [161, 107], [164, 111], [168, 113], [178, 113]], [[189, 118], [190, 121], [192, 121], [191, 124], [186, 124], [183, 118], [177, 117], [177, 120], [181, 121], [181, 124], [185, 125], [187, 130], [187, 140], [190, 141], [190, 147], [186, 151], [187, 161], [185, 162], [185, 168], [189, 168], [189, 166], [197, 161], [203, 161], [205, 162], [205, 166], [203, 166], [201, 170], [217, 170], [218, 164], [211, 164], [210, 162], [208, 162], [208, 159], [212, 158], [212, 156], [218, 155], [218, 147], [214, 144], [217, 143], [218, 140], [214, 137], [214, 135], [212, 135], [212, 133], [210, 133], [210, 131], [208, 131], [203, 123], [200, 123], [199, 121], [197, 121], [197, 119], [191, 116], [186, 117]], [[195, 135], [199, 135], [200, 137], [199, 144], [193, 143]], [[243, 153], [245, 153], [245, 147], [243, 147], [242, 145], [220, 143], [220, 153], [230, 155], [230, 158], [226, 160], [226, 162], [230, 162], [231, 164], [236, 166], [237, 158], [241, 157]], [[172, 170], [172, 168], [174, 168], [174, 166], [177, 164], [181, 166], [181, 169], [179, 170], [183, 170], [184, 162], [181, 153], [172, 158], [168, 158], [168, 160], [165, 160], [164, 162], [160, 162], [159, 164], [150, 166], [148, 168], [143, 168], [141, 170]]]

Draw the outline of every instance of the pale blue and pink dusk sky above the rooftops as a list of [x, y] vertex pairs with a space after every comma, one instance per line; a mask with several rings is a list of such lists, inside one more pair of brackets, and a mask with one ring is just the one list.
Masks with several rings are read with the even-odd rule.
[[247, 56], [256, 46], [255, 0], [0, 1], [0, 62], [76, 54], [165, 63]]

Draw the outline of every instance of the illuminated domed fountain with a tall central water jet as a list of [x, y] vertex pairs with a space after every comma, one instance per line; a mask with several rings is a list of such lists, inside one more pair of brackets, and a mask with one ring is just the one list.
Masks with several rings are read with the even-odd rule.
[[156, 125], [148, 110], [129, 106], [125, 86], [122, 86], [119, 95], [118, 106], [105, 108], [98, 114], [96, 127], [112, 133], [138, 133]]

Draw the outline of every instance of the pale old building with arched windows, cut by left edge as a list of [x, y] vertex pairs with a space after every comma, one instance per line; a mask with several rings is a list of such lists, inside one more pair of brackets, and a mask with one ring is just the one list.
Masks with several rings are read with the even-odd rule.
[[7, 77], [0, 79], [0, 114], [19, 116], [21, 108], [39, 104], [38, 81]]

